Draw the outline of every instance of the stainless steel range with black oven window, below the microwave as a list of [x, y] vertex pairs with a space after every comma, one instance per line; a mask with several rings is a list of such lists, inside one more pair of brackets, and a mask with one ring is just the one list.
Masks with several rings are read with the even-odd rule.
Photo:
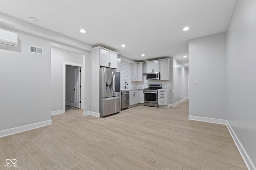
[[162, 88], [162, 84], [149, 84], [144, 89], [144, 106], [158, 107], [158, 89]]

